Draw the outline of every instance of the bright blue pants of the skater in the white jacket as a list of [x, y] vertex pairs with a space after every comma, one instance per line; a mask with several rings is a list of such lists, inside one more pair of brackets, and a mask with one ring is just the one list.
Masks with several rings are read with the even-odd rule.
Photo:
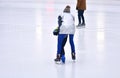
[[[58, 35], [57, 54], [61, 54], [63, 40], [64, 40], [64, 38], [66, 36], [67, 36], [67, 34], [59, 34]], [[73, 38], [74, 38], [74, 35], [73, 34], [69, 34], [69, 43], [70, 43], [70, 46], [71, 46], [71, 52], [75, 53], [75, 46], [74, 46]]]

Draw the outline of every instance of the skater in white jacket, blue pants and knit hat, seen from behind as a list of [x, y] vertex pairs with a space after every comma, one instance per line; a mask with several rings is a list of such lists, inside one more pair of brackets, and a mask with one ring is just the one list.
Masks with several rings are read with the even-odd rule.
[[[71, 56], [72, 59], [75, 60], [75, 45], [74, 45], [74, 33], [75, 33], [75, 19], [74, 16], [70, 13], [70, 6], [67, 5], [63, 11], [63, 13], [60, 15], [62, 19], [61, 26], [59, 28], [59, 34], [58, 34], [58, 45], [57, 45], [57, 57], [55, 59], [55, 62], [60, 62], [62, 60], [63, 63], [65, 63], [65, 55], [62, 54], [62, 48], [64, 39], [69, 36], [69, 42], [71, 45]], [[66, 42], [65, 42], [66, 43]], [[62, 54], [62, 55], [61, 55]]]

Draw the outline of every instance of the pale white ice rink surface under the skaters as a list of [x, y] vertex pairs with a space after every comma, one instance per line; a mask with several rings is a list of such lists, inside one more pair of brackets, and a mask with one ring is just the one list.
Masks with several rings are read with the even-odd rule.
[[76, 28], [76, 62], [55, 64], [57, 16], [77, 0], [0, 0], [0, 78], [120, 78], [120, 0], [87, 0]]

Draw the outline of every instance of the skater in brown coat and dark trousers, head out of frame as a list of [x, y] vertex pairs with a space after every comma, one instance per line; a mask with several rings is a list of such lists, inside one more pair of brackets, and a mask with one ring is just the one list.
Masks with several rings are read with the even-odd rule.
[[86, 0], [77, 0], [76, 10], [78, 11], [78, 25], [85, 26], [84, 11], [86, 10]]

